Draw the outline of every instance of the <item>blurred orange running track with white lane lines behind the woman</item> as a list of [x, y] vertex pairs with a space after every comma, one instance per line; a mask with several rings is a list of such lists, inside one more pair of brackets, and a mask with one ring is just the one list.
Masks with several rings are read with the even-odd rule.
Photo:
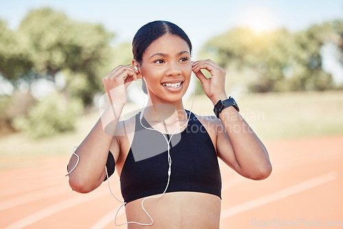
[[[343, 228], [343, 136], [265, 146], [273, 165], [266, 180], [248, 180], [220, 163], [220, 228]], [[71, 191], [64, 177], [68, 160], [1, 158], [0, 228], [126, 228], [115, 226], [120, 203], [106, 182], [92, 193]], [[110, 182], [121, 197], [118, 176]], [[126, 221], [123, 209], [117, 220]]]

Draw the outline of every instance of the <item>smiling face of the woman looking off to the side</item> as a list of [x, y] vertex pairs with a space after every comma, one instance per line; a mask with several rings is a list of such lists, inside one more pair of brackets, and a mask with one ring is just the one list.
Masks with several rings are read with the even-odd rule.
[[161, 36], [145, 50], [139, 70], [152, 101], [180, 101], [187, 91], [192, 71], [187, 42], [175, 35]]

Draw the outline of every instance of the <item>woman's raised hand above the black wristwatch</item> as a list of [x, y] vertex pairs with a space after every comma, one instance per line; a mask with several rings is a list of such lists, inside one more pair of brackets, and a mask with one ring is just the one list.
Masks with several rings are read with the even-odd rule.
[[[211, 73], [211, 77], [207, 78], [200, 71], [205, 69]], [[213, 104], [216, 104], [219, 99], [227, 99], [225, 93], [225, 76], [226, 71], [219, 67], [212, 60], [198, 60], [193, 62], [192, 71], [196, 74], [196, 77], [200, 80], [204, 93], [211, 99]]]

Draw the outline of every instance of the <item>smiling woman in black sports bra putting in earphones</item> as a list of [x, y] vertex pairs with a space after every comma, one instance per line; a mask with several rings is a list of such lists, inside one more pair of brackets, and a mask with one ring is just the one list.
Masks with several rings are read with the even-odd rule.
[[[132, 51], [132, 66], [116, 67], [102, 80], [109, 103], [75, 151], [80, 156], [77, 167], [77, 158], [71, 157], [69, 169], [75, 169], [69, 184], [80, 193], [93, 191], [106, 180], [107, 169], [113, 173], [113, 158], [128, 221], [152, 224], [149, 228], [219, 228], [222, 183], [217, 157], [241, 176], [261, 180], [272, 171], [268, 152], [227, 97], [224, 69], [211, 60], [191, 62], [191, 42], [180, 27], [167, 21], [147, 23], [134, 36]], [[217, 118], [194, 115], [183, 107], [192, 71]], [[148, 106], [119, 122], [126, 88], [142, 78]]]

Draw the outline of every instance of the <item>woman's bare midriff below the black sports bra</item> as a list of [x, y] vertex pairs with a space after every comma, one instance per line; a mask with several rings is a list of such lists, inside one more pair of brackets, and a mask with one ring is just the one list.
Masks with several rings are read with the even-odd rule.
[[[154, 195], [158, 196], [158, 195]], [[128, 221], [150, 224], [151, 219], [144, 212], [141, 202], [144, 198], [126, 204]], [[172, 192], [162, 197], [147, 198], [143, 205], [154, 223], [151, 226], [128, 224], [128, 229], [136, 228], [219, 228], [220, 197], [208, 193]]]

